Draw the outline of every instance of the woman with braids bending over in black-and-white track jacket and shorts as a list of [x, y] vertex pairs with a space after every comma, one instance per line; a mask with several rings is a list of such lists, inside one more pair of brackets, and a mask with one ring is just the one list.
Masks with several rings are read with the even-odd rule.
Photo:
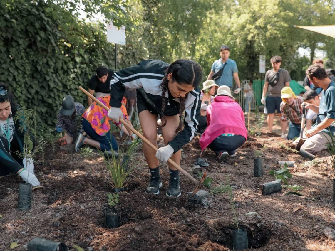
[[[171, 159], [180, 165], [181, 148], [189, 143], [197, 131], [200, 117], [200, 89], [202, 69], [190, 60], [177, 60], [171, 65], [160, 60], [143, 60], [138, 65], [116, 72], [111, 81], [111, 108], [108, 116], [115, 121], [122, 117], [121, 100], [125, 88], [137, 90], [137, 110], [143, 132], [157, 147], [157, 115], [162, 121], [164, 147], [153, 150], [143, 142], [145, 159], [151, 173], [146, 191], [158, 194], [162, 186], [159, 161]], [[184, 129], [182, 118], [184, 119]], [[169, 164], [170, 182], [167, 196], [180, 196], [177, 168]]]

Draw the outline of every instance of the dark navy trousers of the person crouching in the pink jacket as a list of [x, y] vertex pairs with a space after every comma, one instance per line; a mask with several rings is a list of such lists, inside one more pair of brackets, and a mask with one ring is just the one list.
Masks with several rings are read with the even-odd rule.
[[215, 138], [212, 143], [209, 144], [209, 148], [218, 155], [220, 152], [226, 151], [230, 155], [236, 153], [236, 149], [242, 146], [246, 142], [246, 138], [241, 135], [233, 136], [222, 136]]

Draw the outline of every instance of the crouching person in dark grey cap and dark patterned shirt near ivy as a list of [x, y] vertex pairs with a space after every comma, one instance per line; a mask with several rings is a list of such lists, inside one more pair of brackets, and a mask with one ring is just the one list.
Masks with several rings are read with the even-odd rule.
[[[85, 111], [81, 103], [74, 102], [71, 95], [63, 98], [62, 106], [57, 115], [56, 131], [61, 133], [65, 131], [65, 140], [67, 144], [73, 143], [78, 131], [81, 129], [81, 114]], [[78, 130], [79, 129], [79, 130]]]

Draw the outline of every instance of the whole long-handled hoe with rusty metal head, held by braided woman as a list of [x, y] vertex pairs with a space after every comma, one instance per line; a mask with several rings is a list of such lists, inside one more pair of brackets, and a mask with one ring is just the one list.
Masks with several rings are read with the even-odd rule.
[[[81, 86], [79, 86], [79, 90], [81, 90], [83, 93], [85, 93], [88, 97], [90, 97], [92, 100], [94, 100], [97, 104], [99, 104], [101, 107], [103, 107], [105, 110], [109, 110], [109, 108], [103, 104], [102, 102], [100, 102], [98, 99], [96, 99], [92, 94], [90, 94], [88, 91], [86, 91], [84, 88], [82, 88]], [[158, 148], [156, 146], [154, 146], [149, 140], [147, 140], [142, 134], [140, 134], [139, 132], [137, 132], [134, 128], [132, 128], [130, 126], [130, 124], [128, 124], [123, 118], [119, 118], [120, 122], [124, 124], [124, 126], [132, 131], [134, 134], [136, 134], [141, 140], [143, 140], [146, 144], [148, 144], [153, 150], [157, 151]], [[171, 165], [173, 165], [175, 168], [177, 168], [182, 174], [184, 174], [189, 180], [192, 181], [193, 184], [195, 184], [197, 187], [195, 188], [195, 190], [193, 191], [193, 193], [188, 197], [191, 198], [194, 194], [197, 193], [197, 191], [199, 191], [201, 188], [203, 188], [203, 182], [206, 178], [206, 171], [204, 172], [203, 176], [201, 177], [200, 181], [196, 180], [195, 178], [193, 178], [188, 172], [186, 172], [183, 168], [181, 168], [176, 162], [174, 162], [172, 159], [167, 160], [168, 163], [170, 163]]]

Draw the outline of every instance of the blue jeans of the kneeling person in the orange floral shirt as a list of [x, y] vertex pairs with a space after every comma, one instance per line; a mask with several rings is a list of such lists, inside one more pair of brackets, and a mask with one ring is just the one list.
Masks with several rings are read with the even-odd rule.
[[104, 135], [104, 136], [100, 136], [94, 131], [91, 124], [84, 118], [82, 120], [82, 125], [83, 125], [83, 129], [84, 129], [85, 133], [92, 140], [95, 140], [95, 141], [99, 142], [100, 149], [101, 149], [102, 152], [110, 151], [112, 148], [113, 148], [114, 151], [117, 151], [119, 149], [118, 148], [118, 142], [114, 138], [111, 131], [108, 131], [108, 133], [106, 133], [106, 135]]

